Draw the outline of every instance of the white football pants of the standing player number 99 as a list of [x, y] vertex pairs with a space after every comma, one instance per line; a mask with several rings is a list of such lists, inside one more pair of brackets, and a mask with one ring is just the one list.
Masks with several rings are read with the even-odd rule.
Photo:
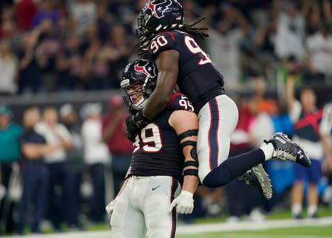
[[112, 238], [174, 238], [176, 208], [169, 212], [181, 186], [170, 176], [131, 176], [111, 217]]

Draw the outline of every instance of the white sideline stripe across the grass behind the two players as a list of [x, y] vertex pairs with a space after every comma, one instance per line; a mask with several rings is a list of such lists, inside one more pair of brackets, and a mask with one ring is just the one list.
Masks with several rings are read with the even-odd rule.
[[[280, 219], [270, 221], [238, 221], [237, 223], [209, 223], [209, 224], [194, 224], [194, 225], [179, 225], [176, 228], [176, 234], [200, 234], [206, 232], [230, 232], [230, 231], [242, 231], [242, 230], [267, 230], [273, 228], [292, 228], [303, 226], [331, 226], [332, 217], [323, 217], [320, 219]], [[62, 232], [54, 234], [42, 234], [42, 235], [25, 235], [25, 236], [8, 236], [3, 238], [109, 238], [111, 237], [110, 230], [104, 231], [86, 231], [86, 232]], [[228, 235], [229, 238], [237, 237], [236, 235]], [[241, 235], [241, 237], [255, 238], [259, 235]], [[266, 235], [265, 235], [266, 237]], [[279, 237], [278, 235], [271, 235], [269, 237]], [[299, 235], [283, 235], [283, 238], [315, 238], [315, 236], [299, 236]], [[263, 237], [262, 237], [263, 238]]]

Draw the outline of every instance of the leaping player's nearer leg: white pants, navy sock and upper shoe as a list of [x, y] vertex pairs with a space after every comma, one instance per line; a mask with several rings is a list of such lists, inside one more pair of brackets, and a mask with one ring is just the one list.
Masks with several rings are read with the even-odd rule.
[[230, 134], [237, 123], [237, 115], [237, 106], [227, 95], [219, 95], [210, 100], [199, 112], [197, 153], [200, 164], [199, 176], [204, 185], [225, 185], [271, 158], [286, 159], [304, 166], [310, 165], [303, 149], [283, 134], [275, 134], [259, 149], [228, 158]]

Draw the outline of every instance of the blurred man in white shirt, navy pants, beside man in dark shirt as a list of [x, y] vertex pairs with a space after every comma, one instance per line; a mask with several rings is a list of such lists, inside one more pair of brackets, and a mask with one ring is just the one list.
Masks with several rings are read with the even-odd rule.
[[[46, 164], [49, 171], [49, 192], [48, 192], [48, 216], [53, 223], [55, 230], [61, 230], [61, 223], [64, 221], [64, 212], [68, 208], [68, 167], [66, 164], [66, 150], [73, 147], [73, 140], [68, 129], [59, 124], [57, 110], [48, 107], [44, 109], [42, 122], [39, 122], [35, 129], [42, 134], [48, 145], [56, 146], [54, 152], [47, 154]], [[57, 187], [61, 187], [59, 191]]]

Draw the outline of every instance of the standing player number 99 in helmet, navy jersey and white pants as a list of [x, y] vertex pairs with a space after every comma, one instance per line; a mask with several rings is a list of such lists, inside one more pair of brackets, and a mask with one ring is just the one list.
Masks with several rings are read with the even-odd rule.
[[[130, 111], [144, 107], [156, 78], [151, 60], [137, 60], [124, 68], [121, 87]], [[175, 237], [176, 211], [188, 214], [194, 208], [198, 128], [192, 103], [185, 95], [172, 93], [162, 113], [139, 131], [127, 179], [106, 208], [111, 237], [145, 238], [146, 233], [150, 238]]]

